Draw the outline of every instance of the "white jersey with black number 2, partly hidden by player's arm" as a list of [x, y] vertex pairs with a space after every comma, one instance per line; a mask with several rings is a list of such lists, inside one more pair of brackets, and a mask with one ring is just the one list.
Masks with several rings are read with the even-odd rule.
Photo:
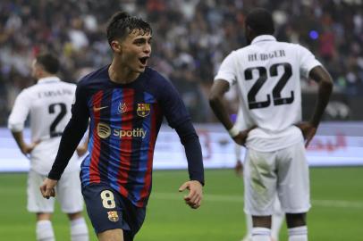
[[[40, 141], [30, 154], [30, 169], [46, 175], [52, 168], [63, 129], [71, 119], [76, 85], [57, 77], [39, 79], [17, 96], [8, 120], [8, 128], [21, 131], [30, 114], [31, 140]], [[79, 170], [73, 155], [64, 172]]]

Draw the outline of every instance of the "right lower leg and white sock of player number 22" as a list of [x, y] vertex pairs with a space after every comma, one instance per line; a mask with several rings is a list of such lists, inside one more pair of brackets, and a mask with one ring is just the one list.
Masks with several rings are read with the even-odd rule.
[[308, 241], [306, 213], [286, 213], [289, 241]]

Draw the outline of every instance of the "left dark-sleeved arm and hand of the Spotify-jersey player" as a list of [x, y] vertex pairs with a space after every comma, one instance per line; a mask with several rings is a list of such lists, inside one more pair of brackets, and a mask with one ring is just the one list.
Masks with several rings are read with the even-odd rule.
[[76, 89], [75, 103], [72, 105], [72, 118], [63, 131], [52, 169], [40, 187], [40, 191], [44, 197], [49, 198], [49, 196], [55, 195], [54, 187], [56, 182], [61, 178], [65, 167], [80, 143], [88, 125], [89, 109], [87, 106], [85, 87], [79, 83]]

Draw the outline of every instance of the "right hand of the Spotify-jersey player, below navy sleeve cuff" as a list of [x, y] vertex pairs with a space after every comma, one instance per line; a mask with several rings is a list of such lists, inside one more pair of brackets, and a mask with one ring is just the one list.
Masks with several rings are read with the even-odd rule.
[[189, 190], [189, 194], [184, 196], [185, 204], [190, 205], [191, 208], [197, 209], [203, 199], [203, 187], [197, 180], [190, 180], [179, 187], [179, 192]]

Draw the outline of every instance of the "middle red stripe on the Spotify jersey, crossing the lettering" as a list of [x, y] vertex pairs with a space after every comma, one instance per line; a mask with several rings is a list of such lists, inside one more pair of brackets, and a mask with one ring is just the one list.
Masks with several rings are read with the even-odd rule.
[[[121, 113], [121, 129], [132, 131], [133, 121], [133, 99], [134, 90], [125, 88], [122, 90], [122, 101], [126, 108], [125, 112]], [[119, 187], [121, 195], [127, 197], [129, 191], [125, 188], [129, 171], [131, 170], [131, 155], [132, 155], [132, 137], [122, 137], [120, 144], [120, 169], [119, 169]]]

